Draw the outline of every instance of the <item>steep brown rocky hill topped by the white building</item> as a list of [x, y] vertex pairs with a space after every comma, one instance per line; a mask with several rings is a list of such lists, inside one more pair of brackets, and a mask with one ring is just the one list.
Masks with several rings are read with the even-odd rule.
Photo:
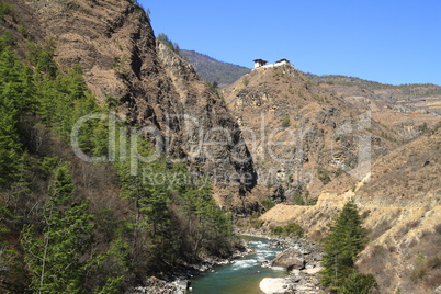
[[385, 128], [369, 112], [310, 82], [292, 65], [255, 69], [223, 94], [255, 159], [256, 193], [275, 202], [312, 201], [344, 171], [362, 178], [357, 169], [395, 145], [378, 136]]

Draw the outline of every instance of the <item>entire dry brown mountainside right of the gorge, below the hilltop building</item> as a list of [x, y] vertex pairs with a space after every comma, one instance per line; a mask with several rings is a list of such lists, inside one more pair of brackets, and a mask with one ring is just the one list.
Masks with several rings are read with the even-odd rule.
[[[320, 240], [332, 217], [354, 199], [370, 238], [357, 265], [374, 274], [381, 293], [432, 293], [439, 286], [437, 116], [426, 117], [426, 132], [416, 134], [421, 137], [397, 148], [410, 136], [375, 118], [403, 113], [328, 92], [292, 66], [255, 69], [224, 94], [255, 158], [255, 193], [282, 202], [260, 217], [263, 227], [296, 223]], [[315, 205], [293, 205], [315, 196]]]

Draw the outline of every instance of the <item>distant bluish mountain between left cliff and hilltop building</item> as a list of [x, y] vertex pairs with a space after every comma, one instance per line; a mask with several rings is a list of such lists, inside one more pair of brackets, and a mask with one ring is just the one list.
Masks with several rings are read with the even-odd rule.
[[217, 82], [220, 88], [234, 83], [241, 76], [251, 71], [249, 68], [223, 63], [194, 50], [181, 49], [180, 54], [193, 65], [202, 79]]

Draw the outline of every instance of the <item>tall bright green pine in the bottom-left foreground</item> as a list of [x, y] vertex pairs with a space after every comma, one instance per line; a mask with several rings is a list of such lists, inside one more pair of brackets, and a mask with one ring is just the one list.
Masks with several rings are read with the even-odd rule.
[[74, 202], [74, 184], [66, 163], [55, 172], [43, 216], [42, 238], [35, 236], [33, 226], [23, 228], [31, 289], [36, 293], [82, 293], [80, 282], [87, 264], [80, 257], [92, 244], [93, 227], [88, 202]]

